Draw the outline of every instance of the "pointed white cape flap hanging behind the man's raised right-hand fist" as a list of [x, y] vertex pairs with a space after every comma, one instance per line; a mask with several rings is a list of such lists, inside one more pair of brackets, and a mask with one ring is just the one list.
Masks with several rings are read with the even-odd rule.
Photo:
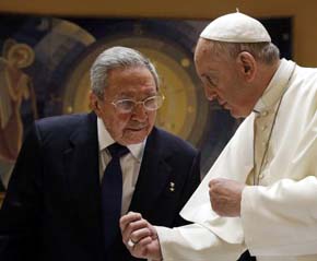
[[[221, 155], [203, 178], [198, 189], [180, 212], [180, 215], [192, 223], [201, 224], [211, 234], [228, 244], [243, 244], [244, 233], [237, 217], [221, 217], [211, 209], [208, 183], [212, 178], [223, 177], [245, 182], [253, 169], [253, 133], [254, 117], [247, 117], [235, 135], [222, 151]], [[244, 157], [237, 156], [237, 151]]]

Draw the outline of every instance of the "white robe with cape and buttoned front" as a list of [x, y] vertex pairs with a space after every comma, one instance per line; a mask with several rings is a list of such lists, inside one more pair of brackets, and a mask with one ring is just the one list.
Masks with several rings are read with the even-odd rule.
[[[317, 70], [282, 59], [255, 109], [183, 209], [195, 224], [156, 227], [164, 261], [234, 261], [245, 249], [258, 261], [317, 261]], [[259, 185], [244, 189], [240, 217], [211, 210], [214, 177]]]

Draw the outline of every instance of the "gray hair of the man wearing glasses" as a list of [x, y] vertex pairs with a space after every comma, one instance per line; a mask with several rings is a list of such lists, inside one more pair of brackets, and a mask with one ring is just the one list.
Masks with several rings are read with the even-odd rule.
[[146, 68], [151, 72], [158, 91], [158, 74], [153, 63], [134, 49], [116, 46], [104, 50], [94, 61], [91, 68], [92, 92], [98, 98], [104, 98], [109, 71], [117, 68], [129, 69], [136, 67]]

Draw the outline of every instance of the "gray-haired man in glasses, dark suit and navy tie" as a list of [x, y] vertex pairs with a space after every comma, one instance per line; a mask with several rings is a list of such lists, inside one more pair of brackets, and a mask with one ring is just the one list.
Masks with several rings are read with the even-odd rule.
[[137, 260], [119, 217], [186, 224], [199, 154], [154, 127], [163, 103], [153, 64], [114, 47], [91, 70], [93, 111], [42, 119], [25, 139], [0, 215], [0, 260]]

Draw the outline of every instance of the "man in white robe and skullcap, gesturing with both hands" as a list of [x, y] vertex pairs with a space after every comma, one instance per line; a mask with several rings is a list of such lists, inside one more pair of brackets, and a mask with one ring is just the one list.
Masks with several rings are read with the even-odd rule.
[[121, 217], [140, 258], [164, 261], [317, 260], [317, 69], [280, 59], [266, 28], [242, 13], [201, 33], [195, 51], [208, 99], [246, 117], [173, 229]]

